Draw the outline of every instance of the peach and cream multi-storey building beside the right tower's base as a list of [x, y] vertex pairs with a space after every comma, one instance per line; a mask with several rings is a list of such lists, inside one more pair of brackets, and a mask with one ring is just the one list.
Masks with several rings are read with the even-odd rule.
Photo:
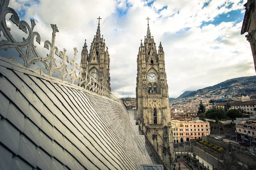
[[172, 120], [173, 143], [187, 142], [210, 135], [210, 123], [202, 120]]

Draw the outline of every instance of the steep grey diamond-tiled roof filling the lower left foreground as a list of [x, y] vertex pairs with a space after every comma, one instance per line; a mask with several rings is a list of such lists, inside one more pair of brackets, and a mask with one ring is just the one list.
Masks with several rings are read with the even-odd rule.
[[121, 103], [0, 60], [0, 169], [140, 169], [134, 133]]

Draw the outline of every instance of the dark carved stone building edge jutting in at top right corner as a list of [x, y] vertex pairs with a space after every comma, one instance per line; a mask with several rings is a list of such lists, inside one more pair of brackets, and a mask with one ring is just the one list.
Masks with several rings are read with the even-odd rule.
[[244, 6], [245, 14], [241, 34], [246, 32], [248, 33], [245, 35], [245, 37], [251, 44], [254, 67], [256, 71], [256, 2], [255, 0], [248, 0]]

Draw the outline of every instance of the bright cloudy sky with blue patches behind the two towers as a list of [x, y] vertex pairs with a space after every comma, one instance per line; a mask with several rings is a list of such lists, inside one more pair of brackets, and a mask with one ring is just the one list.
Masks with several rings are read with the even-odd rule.
[[[140, 40], [147, 34], [147, 17], [156, 46], [160, 41], [165, 54], [165, 71], [169, 97], [177, 98], [185, 91], [194, 91], [231, 78], [254, 76], [250, 44], [241, 35], [246, 0], [10, 0], [13, 8], [41, 36], [35, 42], [44, 58], [49, 50], [44, 41], [51, 41], [56, 24], [55, 45], [70, 60], [73, 48], [81, 61], [86, 39], [88, 51], [100, 20], [100, 33], [110, 55], [111, 88], [119, 97], [136, 97], [137, 55]], [[28, 34], [10, 22], [7, 26], [16, 41]], [[2, 33], [1, 33], [2, 34]], [[4, 39], [1, 36], [1, 39]], [[1, 40], [0, 39], [0, 40]], [[18, 56], [15, 52], [10, 52]], [[0, 55], [4, 51], [0, 51]], [[18, 59], [19, 60], [19, 59]], [[21, 60], [21, 59], [20, 59]], [[57, 59], [58, 60], [58, 59]], [[34, 66], [43, 67], [36, 63]]]

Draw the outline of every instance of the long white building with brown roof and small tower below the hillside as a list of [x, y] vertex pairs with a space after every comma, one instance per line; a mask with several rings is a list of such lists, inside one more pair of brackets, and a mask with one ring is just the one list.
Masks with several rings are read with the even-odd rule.
[[[223, 109], [226, 107], [225, 105], [227, 104], [227, 102], [222, 102], [222, 103], [216, 103], [215, 107], [222, 107]], [[256, 111], [253, 110], [254, 108], [256, 108], [256, 100], [251, 100], [251, 101], [238, 101], [238, 102], [229, 102], [229, 104], [231, 105], [230, 109], [241, 109], [244, 110], [246, 112], [250, 112], [253, 115], [256, 115]]]

